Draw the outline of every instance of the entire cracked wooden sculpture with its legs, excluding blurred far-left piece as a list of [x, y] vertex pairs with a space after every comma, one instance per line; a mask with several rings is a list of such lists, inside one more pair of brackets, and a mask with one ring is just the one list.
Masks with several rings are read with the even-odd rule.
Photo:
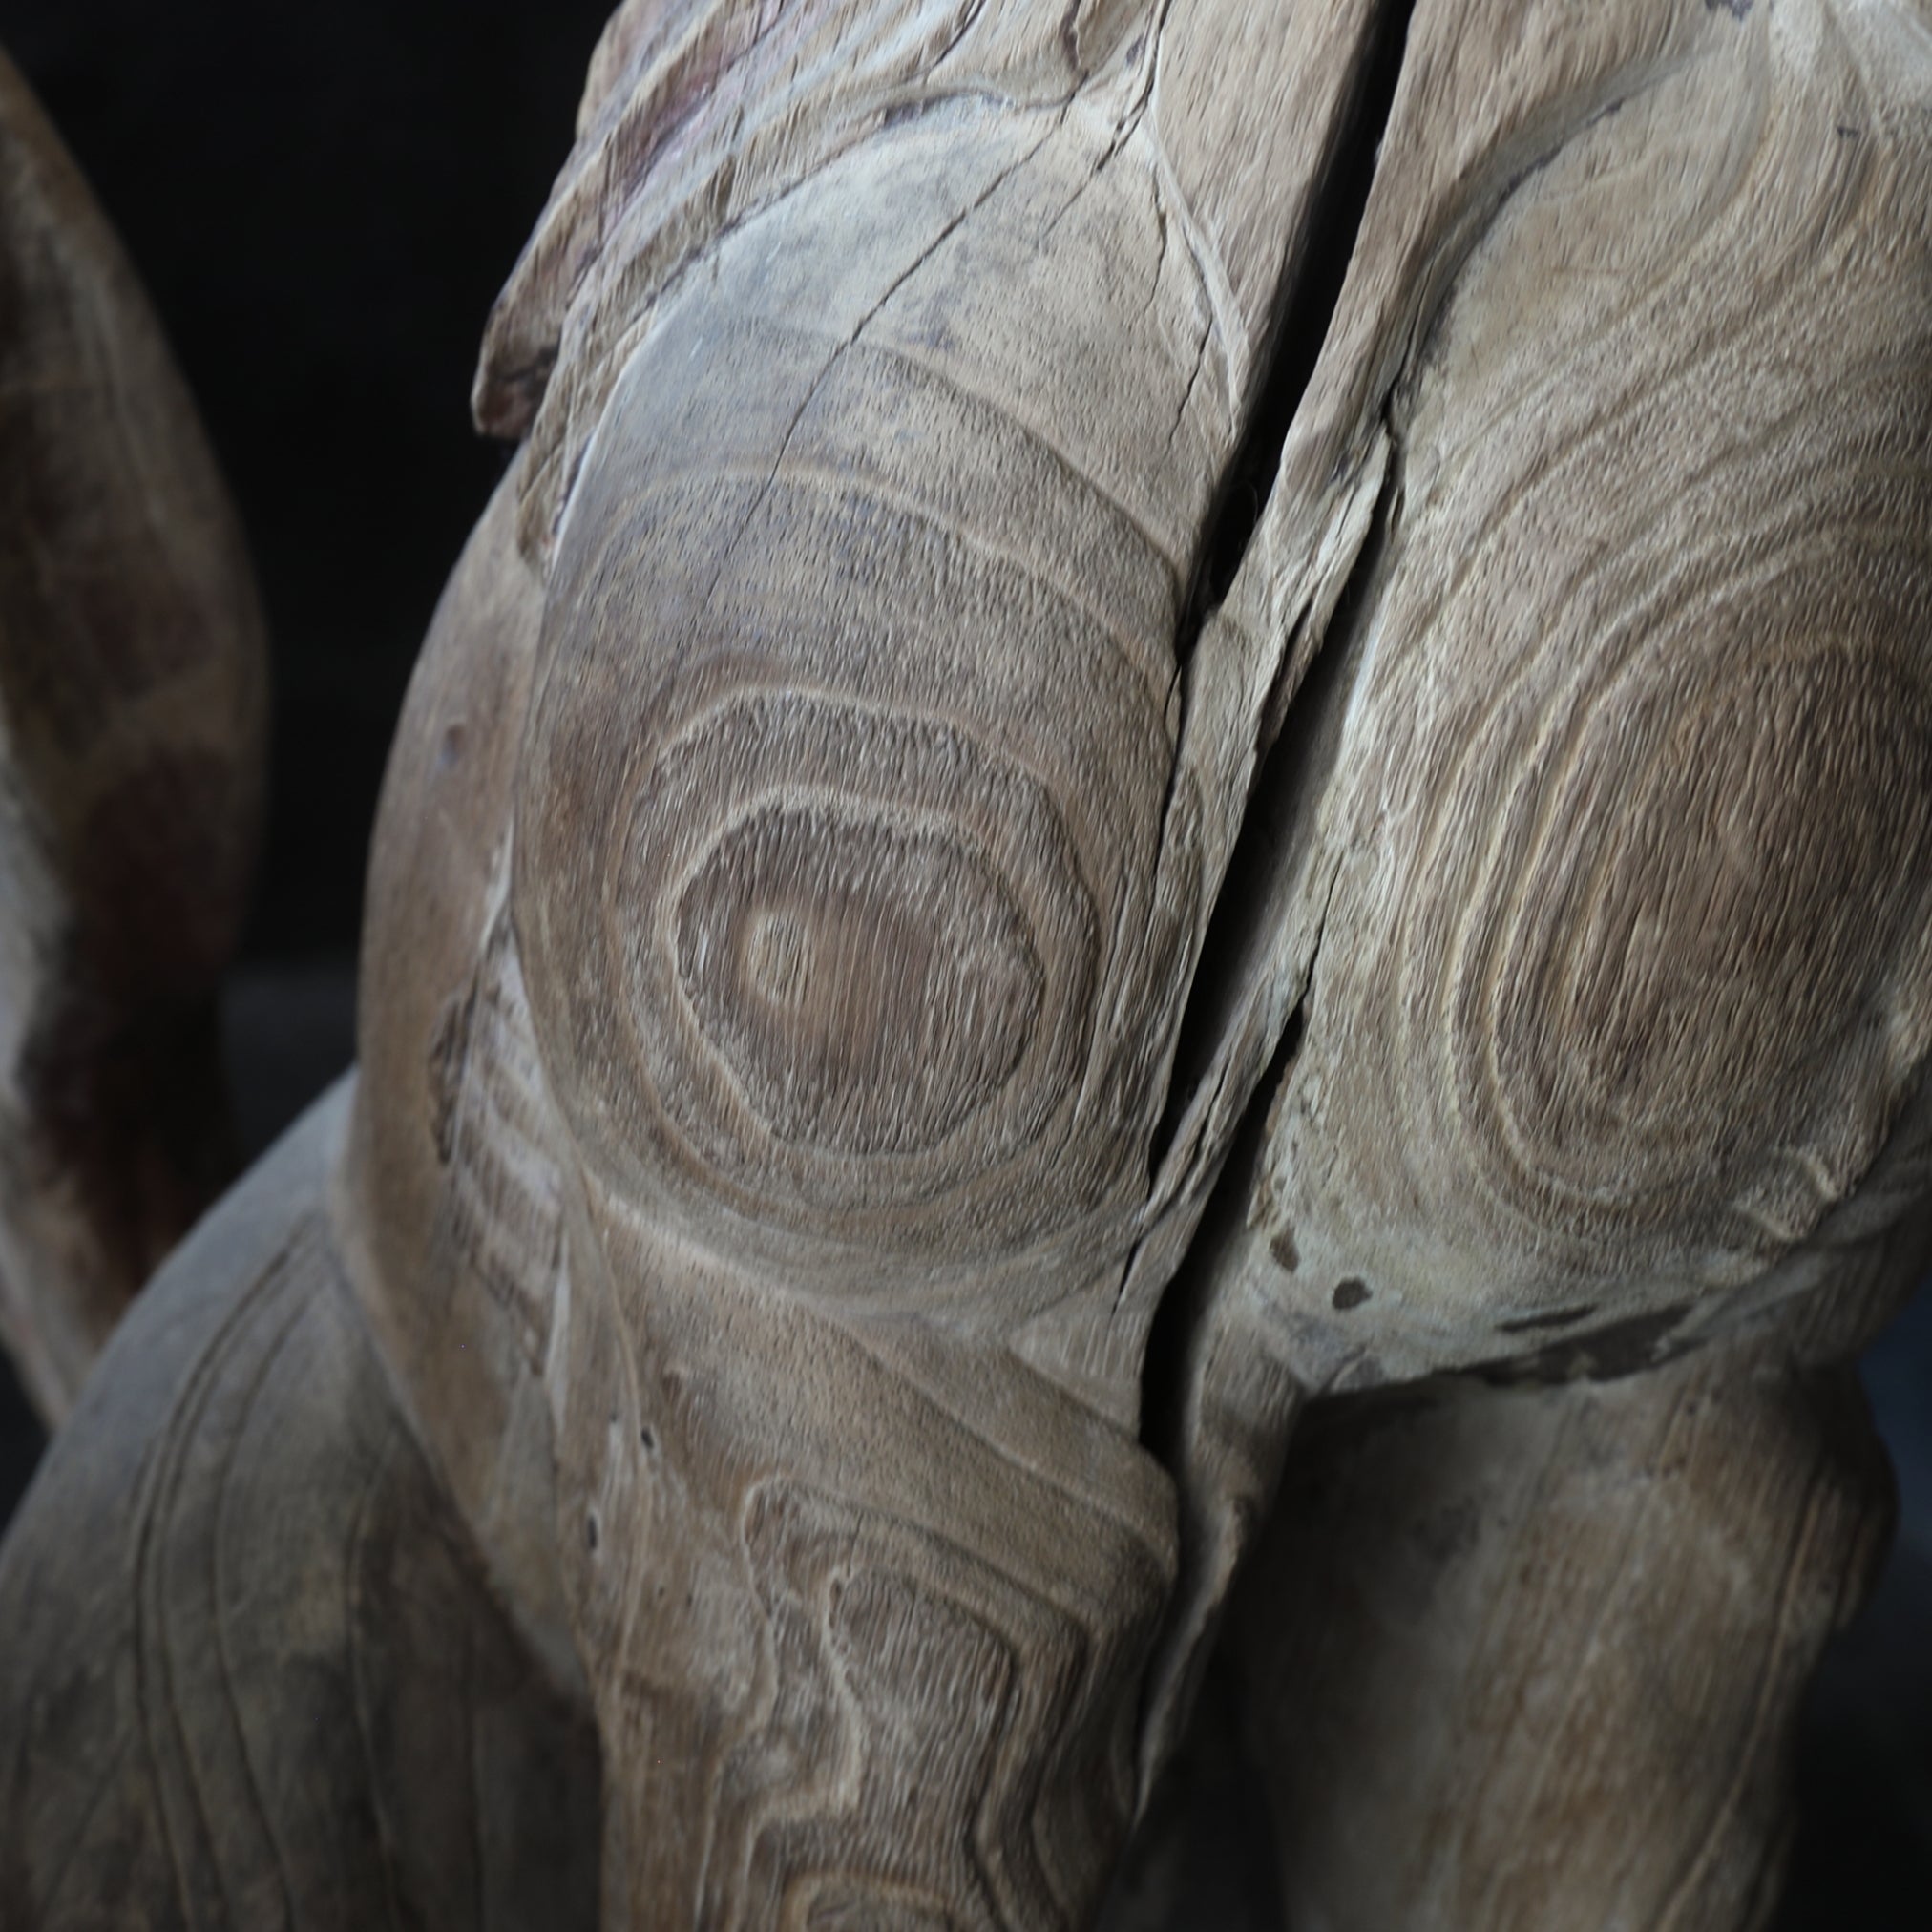
[[0, 1922], [1084, 1926], [1219, 1642], [1294, 1926], [1762, 1924], [1932, 1248], [1928, 15], [628, 0], [475, 408]]

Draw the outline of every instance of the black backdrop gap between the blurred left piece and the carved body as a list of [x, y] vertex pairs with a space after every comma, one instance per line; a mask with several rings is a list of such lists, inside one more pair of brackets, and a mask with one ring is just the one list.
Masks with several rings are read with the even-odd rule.
[[489, 305], [614, 0], [0, 0], [120, 228], [247, 524], [274, 638], [249, 956], [348, 952], [377, 782], [504, 456]]

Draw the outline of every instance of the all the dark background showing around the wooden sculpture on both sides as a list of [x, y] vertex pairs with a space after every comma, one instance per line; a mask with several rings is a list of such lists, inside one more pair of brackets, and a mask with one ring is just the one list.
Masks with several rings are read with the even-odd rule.
[[[504, 466], [469, 429], [475, 346], [612, 4], [0, 4], [0, 43], [201, 402], [269, 609], [269, 842], [224, 1012], [251, 1150], [352, 1055], [383, 759], [442, 578]], [[1932, 1926], [1932, 1300], [1866, 1385], [1901, 1472], [1901, 1536], [1810, 1704], [1779, 1932]], [[39, 1447], [0, 1364], [0, 1522]], [[1196, 1922], [1260, 1932], [1264, 1866], [1236, 1837], [1250, 1808], [1221, 1793], [1202, 1814]]]

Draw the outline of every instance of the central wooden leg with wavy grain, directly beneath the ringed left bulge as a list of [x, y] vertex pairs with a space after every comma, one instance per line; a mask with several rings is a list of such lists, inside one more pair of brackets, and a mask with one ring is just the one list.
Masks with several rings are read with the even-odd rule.
[[[597, 1426], [564, 1439], [566, 1569], [632, 1922], [1080, 1922], [1171, 1561], [1130, 1445], [999, 1364], [875, 1352], [721, 1275], [659, 1279], [611, 1362], [583, 1291], [572, 1368], [605, 1370], [574, 1378]], [[1037, 1466], [985, 1439], [993, 1406], [1053, 1416]]]

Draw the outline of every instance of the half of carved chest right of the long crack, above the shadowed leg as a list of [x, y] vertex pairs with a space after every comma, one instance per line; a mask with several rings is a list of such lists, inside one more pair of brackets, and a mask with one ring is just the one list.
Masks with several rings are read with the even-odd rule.
[[1217, 618], [1294, 696], [1180, 1134], [1217, 1173], [1289, 1041], [1188, 1262], [1204, 1598], [1281, 1455], [1258, 1354], [1634, 1364], [1922, 1273], [1928, 104], [1911, 10], [1414, 12]]

